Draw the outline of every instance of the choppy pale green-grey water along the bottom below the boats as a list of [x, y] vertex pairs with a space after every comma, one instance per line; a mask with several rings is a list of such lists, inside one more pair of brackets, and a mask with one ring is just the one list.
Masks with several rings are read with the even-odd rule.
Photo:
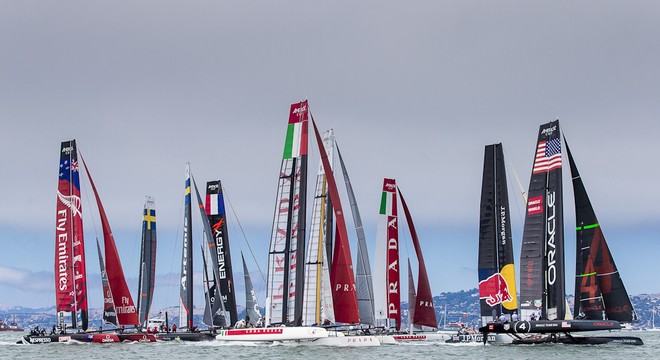
[[151, 344], [45, 344], [18, 345], [19, 334], [0, 334], [2, 359], [653, 359], [660, 358], [660, 332], [619, 332], [638, 336], [643, 346], [622, 345], [481, 345], [409, 343], [372, 348], [337, 348], [285, 345], [223, 345], [215, 342], [158, 342]]

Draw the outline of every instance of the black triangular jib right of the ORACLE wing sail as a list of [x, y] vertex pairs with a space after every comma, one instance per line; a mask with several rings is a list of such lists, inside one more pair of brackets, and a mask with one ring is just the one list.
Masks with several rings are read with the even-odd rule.
[[586, 319], [637, 320], [568, 144], [576, 224], [574, 314]]

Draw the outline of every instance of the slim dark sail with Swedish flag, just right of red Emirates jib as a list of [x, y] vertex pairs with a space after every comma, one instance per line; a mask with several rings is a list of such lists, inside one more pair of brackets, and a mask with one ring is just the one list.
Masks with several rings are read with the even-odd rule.
[[156, 277], [156, 209], [154, 198], [147, 196], [142, 215], [142, 246], [138, 280], [138, 318], [147, 327]]

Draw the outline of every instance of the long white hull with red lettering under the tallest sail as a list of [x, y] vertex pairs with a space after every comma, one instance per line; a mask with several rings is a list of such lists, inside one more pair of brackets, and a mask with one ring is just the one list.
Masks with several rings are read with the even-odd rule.
[[314, 326], [268, 327], [220, 330], [215, 337], [220, 341], [294, 341], [328, 337], [328, 331]]

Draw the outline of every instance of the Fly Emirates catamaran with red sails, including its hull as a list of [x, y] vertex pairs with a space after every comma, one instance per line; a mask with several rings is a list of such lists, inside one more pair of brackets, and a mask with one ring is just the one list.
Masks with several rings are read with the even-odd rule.
[[[133, 299], [128, 291], [126, 279], [115, 246], [114, 236], [106, 216], [101, 198], [98, 194], [89, 168], [82, 159], [87, 178], [92, 186], [96, 204], [101, 218], [103, 242], [105, 249], [105, 263], [101, 259], [101, 270], [107, 279], [104, 282], [104, 303], [112, 302], [106, 309], [114, 309], [117, 326], [138, 326], [137, 311]], [[50, 335], [26, 335], [23, 343], [49, 343], [49, 342], [99, 342], [110, 343], [120, 341], [155, 341], [150, 334], [142, 333], [72, 333], [67, 332], [64, 323], [64, 312], [71, 313], [71, 329], [88, 330], [88, 303], [87, 303], [87, 275], [85, 269], [85, 249], [82, 226], [82, 204], [80, 198], [80, 174], [78, 150], [76, 141], [62, 142], [60, 148], [60, 167], [56, 210], [55, 232], [55, 290], [56, 311], [59, 313], [60, 333]], [[100, 246], [97, 246], [100, 252]], [[104, 271], [105, 269], [105, 271]], [[106, 281], [107, 280], [107, 281]], [[109, 311], [108, 315], [112, 311]], [[80, 323], [78, 322], [80, 315]], [[114, 320], [114, 319], [113, 319]], [[78, 327], [80, 325], [80, 328]]]

